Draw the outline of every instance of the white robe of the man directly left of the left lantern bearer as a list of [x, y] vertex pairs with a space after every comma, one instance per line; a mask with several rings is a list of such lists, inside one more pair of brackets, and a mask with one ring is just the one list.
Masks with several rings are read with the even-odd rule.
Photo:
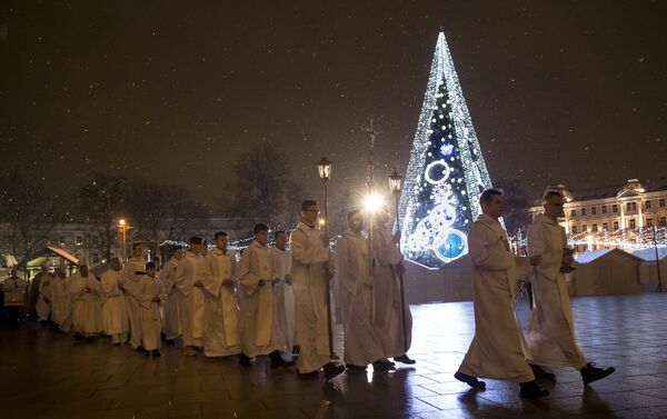
[[289, 351], [297, 345], [297, 331], [295, 326], [295, 291], [292, 286], [285, 282], [291, 277], [292, 255], [289, 250], [280, 250], [271, 247], [273, 259], [273, 272], [280, 279], [280, 283], [273, 286], [273, 298], [276, 299], [276, 316], [280, 335]]

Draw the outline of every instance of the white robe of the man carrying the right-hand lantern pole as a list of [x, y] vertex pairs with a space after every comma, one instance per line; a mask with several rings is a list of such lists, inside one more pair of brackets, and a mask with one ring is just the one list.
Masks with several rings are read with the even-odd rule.
[[[400, 298], [400, 280], [396, 267], [402, 260], [391, 232], [387, 229], [374, 230], [372, 249], [376, 257], [375, 298], [376, 327], [382, 339], [385, 357], [394, 358], [405, 355], [412, 342], [412, 315], [410, 306]], [[401, 312], [402, 310], [402, 312]], [[406, 322], [406, 342], [404, 342], [402, 317]]]

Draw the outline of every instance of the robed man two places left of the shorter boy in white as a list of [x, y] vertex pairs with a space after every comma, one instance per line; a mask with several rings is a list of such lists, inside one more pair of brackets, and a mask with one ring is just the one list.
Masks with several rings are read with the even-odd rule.
[[128, 306], [126, 295], [121, 287], [122, 263], [120, 259], [112, 258], [110, 268], [102, 273], [100, 287], [102, 288], [102, 325], [104, 335], [111, 337], [111, 343], [119, 346], [128, 339], [130, 321], [128, 318]]

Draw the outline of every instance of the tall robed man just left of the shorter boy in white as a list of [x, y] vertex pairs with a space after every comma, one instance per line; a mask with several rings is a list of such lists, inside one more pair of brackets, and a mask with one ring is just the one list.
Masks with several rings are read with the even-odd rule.
[[130, 345], [132, 349], [142, 352], [141, 347], [141, 307], [137, 296], [139, 293], [139, 279], [143, 276], [146, 269], [146, 258], [143, 257], [143, 245], [137, 242], [132, 245], [132, 256], [122, 268], [121, 286], [126, 291], [126, 303], [128, 306], [128, 317], [130, 319]]

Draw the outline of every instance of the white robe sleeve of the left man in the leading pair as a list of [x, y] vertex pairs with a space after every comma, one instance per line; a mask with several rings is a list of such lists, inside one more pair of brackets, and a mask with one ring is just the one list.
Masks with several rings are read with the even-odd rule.
[[512, 268], [514, 256], [505, 248], [501, 236], [478, 222], [472, 225], [468, 233], [468, 249], [472, 266], [477, 269], [497, 271]]

